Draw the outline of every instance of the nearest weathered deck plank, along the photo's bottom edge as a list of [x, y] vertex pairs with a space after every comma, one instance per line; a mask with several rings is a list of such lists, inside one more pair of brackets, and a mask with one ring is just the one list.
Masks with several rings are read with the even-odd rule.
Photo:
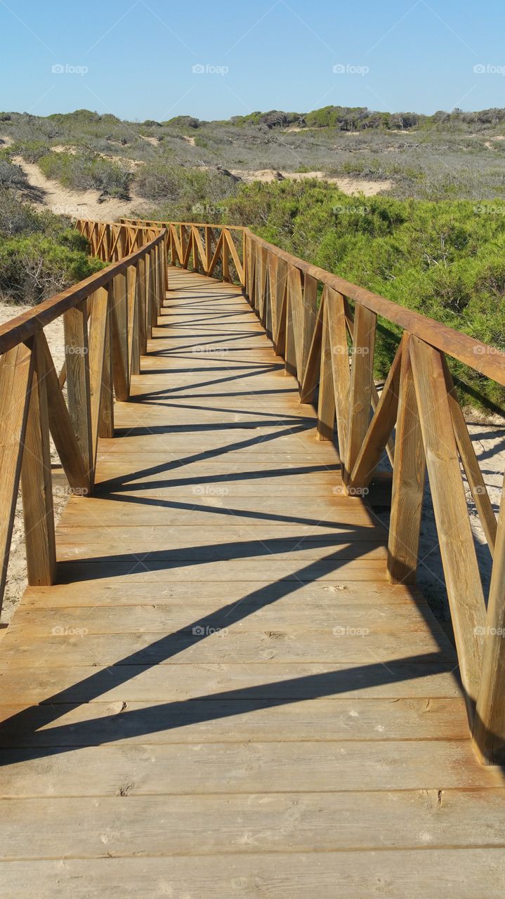
[[[140, 894], [164, 899], [167, 887], [184, 895], [188, 884], [199, 899], [251, 896], [271, 899], [363, 899], [384, 892], [388, 899], [502, 899], [505, 852], [501, 848], [457, 850], [364, 850], [297, 852], [230, 857], [179, 856], [170, 859], [68, 859], [4, 862], [9, 899], [108, 899]], [[35, 872], [35, 877], [34, 877]]]

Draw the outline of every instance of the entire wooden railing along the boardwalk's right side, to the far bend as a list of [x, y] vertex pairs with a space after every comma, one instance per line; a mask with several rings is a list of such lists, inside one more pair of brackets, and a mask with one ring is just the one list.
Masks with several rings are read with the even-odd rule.
[[[235, 280], [297, 377], [300, 401], [316, 403], [319, 440], [333, 440], [336, 430], [343, 490], [365, 494], [384, 453], [389, 458], [391, 583], [415, 582], [428, 471], [474, 746], [481, 761], [498, 761], [505, 746], [505, 500], [497, 522], [446, 356], [505, 386], [505, 354], [297, 259], [248, 228], [146, 225], [166, 228], [173, 264], [223, 280], [233, 280], [226, 256], [239, 234]], [[380, 395], [377, 317], [403, 332]], [[487, 610], [461, 465], [494, 560]]]

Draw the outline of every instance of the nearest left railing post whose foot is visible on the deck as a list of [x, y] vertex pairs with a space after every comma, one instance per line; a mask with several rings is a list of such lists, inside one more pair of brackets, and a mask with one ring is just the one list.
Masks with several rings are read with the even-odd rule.
[[56, 579], [56, 538], [45, 347], [41, 332], [33, 337], [31, 346], [34, 365], [22, 450], [22, 514], [28, 583], [40, 587], [54, 583]]

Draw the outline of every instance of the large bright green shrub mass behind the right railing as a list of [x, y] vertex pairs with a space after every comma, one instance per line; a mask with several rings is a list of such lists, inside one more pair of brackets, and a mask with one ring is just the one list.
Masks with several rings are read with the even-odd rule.
[[[312, 181], [242, 186], [228, 208], [230, 223], [247, 223], [326, 271], [505, 351], [504, 201], [349, 197]], [[380, 378], [400, 335], [384, 325]], [[456, 361], [451, 367], [471, 391], [505, 405], [503, 388]]]

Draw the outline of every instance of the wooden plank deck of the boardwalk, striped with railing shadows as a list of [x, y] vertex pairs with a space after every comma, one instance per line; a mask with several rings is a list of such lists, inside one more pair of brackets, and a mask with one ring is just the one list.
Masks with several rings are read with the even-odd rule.
[[239, 289], [169, 279], [1, 642], [4, 899], [501, 899], [452, 645]]

